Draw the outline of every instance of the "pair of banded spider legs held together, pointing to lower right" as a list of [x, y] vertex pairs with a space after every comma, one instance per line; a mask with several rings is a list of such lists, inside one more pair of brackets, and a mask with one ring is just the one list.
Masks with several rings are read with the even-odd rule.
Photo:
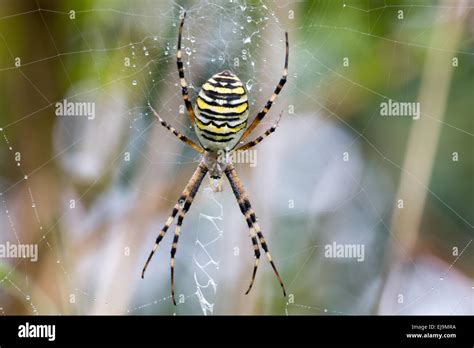
[[229, 164], [227, 166], [225, 170], [225, 174], [227, 178], [229, 179], [230, 185], [232, 187], [232, 191], [234, 192], [234, 195], [237, 198], [237, 202], [239, 203], [240, 210], [242, 211], [242, 213], [244, 214], [247, 220], [247, 225], [250, 228], [252, 243], [254, 245], [254, 250], [255, 250], [255, 265], [254, 265], [254, 269], [252, 273], [252, 280], [250, 281], [250, 286], [246, 294], [248, 294], [250, 289], [252, 288], [253, 282], [255, 280], [255, 274], [257, 273], [257, 267], [258, 267], [259, 258], [260, 258], [260, 251], [258, 250], [258, 245], [256, 245], [256, 241], [257, 241], [257, 238], [255, 238], [255, 232], [256, 232], [259, 238], [260, 244], [262, 245], [262, 248], [265, 251], [265, 255], [268, 261], [270, 262], [270, 265], [272, 266], [273, 271], [275, 272], [275, 275], [278, 279], [278, 282], [280, 283], [280, 286], [283, 290], [283, 296], [286, 296], [285, 285], [283, 284], [280, 274], [278, 273], [278, 270], [273, 262], [272, 256], [270, 255], [270, 251], [268, 250], [267, 243], [265, 241], [265, 238], [263, 237], [262, 230], [260, 229], [260, 226], [257, 223], [255, 212], [253, 211], [252, 206], [250, 205], [250, 201], [247, 197], [247, 193], [245, 192], [244, 187], [242, 186], [242, 183], [240, 182], [239, 177], [237, 176], [237, 172], [233, 164]]

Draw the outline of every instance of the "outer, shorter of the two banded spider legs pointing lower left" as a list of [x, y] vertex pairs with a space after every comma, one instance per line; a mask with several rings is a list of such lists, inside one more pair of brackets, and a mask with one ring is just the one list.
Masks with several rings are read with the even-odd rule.
[[[153, 255], [155, 254], [156, 249], [158, 249], [158, 245], [160, 244], [161, 240], [163, 239], [163, 237], [165, 236], [165, 234], [168, 231], [169, 227], [173, 223], [173, 220], [176, 217], [176, 215], [178, 214], [178, 211], [180, 210], [181, 205], [183, 204], [183, 202], [187, 202], [188, 196], [192, 192], [197, 192], [197, 188], [201, 184], [202, 179], [204, 178], [206, 173], [207, 173], [206, 166], [203, 163], [200, 163], [198, 168], [194, 172], [193, 176], [189, 180], [188, 184], [186, 185], [185, 189], [181, 193], [181, 196], [179, 197], [178, 202], [175, 204], [175, 206], [173, 208], [173, 211], [171, 212], [171, 215], [168, 217], [168, 220], [166, 220], [165, 225], [163, 226], [160, 233], [158, 234], [158, 237], [156, 238], [155, 244], [153, 245], [153, 248], [151, 249], [150, 255], [148, 256], [148, 258], [145, 262], [145, 265], [143, 266], [142, 278], [145, 277], [145, 272], [146, 272], [146, 269], [148, 267], [148, 264], [150, 263], [151, 258], [153, 257]], [[186, 205], [186, 203], [184, 203], [184, 205]]]

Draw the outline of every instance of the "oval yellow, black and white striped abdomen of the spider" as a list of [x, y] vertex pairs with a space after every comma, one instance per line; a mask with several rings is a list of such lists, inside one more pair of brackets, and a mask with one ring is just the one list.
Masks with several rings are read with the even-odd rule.
[[207, 151], [232, 150], [247, 126], [248, 99], [240, 79], [228, 70], [204, 83], [196, 99], [194, 129]]

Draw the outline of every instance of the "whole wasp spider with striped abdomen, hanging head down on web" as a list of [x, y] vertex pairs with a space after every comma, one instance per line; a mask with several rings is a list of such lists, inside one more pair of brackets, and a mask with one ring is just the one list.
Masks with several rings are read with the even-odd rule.
[[[179, 197], [177, 203], [175, 204], [170, 217], [168, 218], [161, 232], [156, 238], [150, 256], [148, 256], [145, 266], [143, 267], [142, 278], [145, 275], [146, 268], [151, 258], [153, 257], [153, 254], [158, 248], [158, 244], [165, 236], [166, 231], [172, 224], [176, 215], [178, 215], [173, 245], [171, 248], [171, 295], [173, 303], [176, 305], [174, 295], [174, 257], [176, 254], [178, 239], [181, 232], [181, 226], [183, 224], [185, 214], [189, 210], [191, 203], [193, 202], [193, 199], [199, 189], [199, 186], [201, 185], [206, 174], [209, 172], [209, 175], [211, 177], [211, 187], [214, 191], [219, 191], [220, 185], [214, 186], [213, 182], [217, 181], [220, 183], [223, 174], [227, 176], [230, 182], [230, 186], [232, 187], [232, 191], [234, 192], [234, 195], [237, 198], [237, 202], [239, 203], [240, 210], [245, 216], [247, 225], [250, 229], [250, 237], [255, 253], [255, 264], [250, 285], [246, 294], [248, 294], [250, 289], [252, 289], [252, 285], [255, 280], [255, 274], [257, 273], [257, 268], [260, 261], [260, 243], [260, 246], [265, 251], [265, 255], [268, 258], [268, 261], [270, 262], [273, 271], [275, 272], [275, 275], [278, 278], [278, 281], [280, 282], [280, 286], [283, 289], [283, 295], [286, 296], [285, 286], [283, 285], [283, 281], [280, 275], [278, 274], [275, 264], [273, 263], [270, 252], [268, 251], [267, 243], [265, 242], [265, 238], [263, 237], [262, 230], [258, 225], [257, 218], [252, 209], [252, 206], [250, 205], [247, 193], [245, 192], [244, 187], [242, 186], [237, 176], [235, 167], [229, 159], [230, 156], [220, 156], [219, 154], [222, 152], [229, 153], [230, 151], [246, 150], [251, 147], [254, 147], [264, 138], [273, 133], [276, 127], [278, 126], [277, 121], [277, 123], [270, 129], [268, 129], [263, 135], [235, 149], [236, 145], [243, 142], [243, 140], [247, 138], [247, 136], [262, 121], [262, 119], [270, 110], [278, 93], [280, 93], [281, 89], [283, 88], [283, 85], [286, 82], [286, 78], [288, 75], [289, 51], [288, 33], [285, 33], [286, 54], [283, 76], [281, 77], [280, 82], [278, 83], [277, 87], [275, 88], [275, 91], [273, 92], [265, 107], [258, 113], [252, 123], [250, 123], [250, 126], [247, 127], [249, 104], [245, 87], [240, 81], [240, 79], [229, 70], [225, 70], [221, 73], [215, 74], [204, 83], [196, 99], [197, 112], [194, 113], [193, 106], [189, 99], [188, 84], [186, 83], [186, 80], [184, 78], [183, 62], [181, 60], [181, 37], [183, 33], [185, 17], [186, 14], [184, 14], [184, 17], [181, 21], [181, 25], [179, 27], [177, 64], [184, 103], [186, 104], [189, 119], [194, 125], [194, 130], [198, 137], [200, 146], [194, 143], [186, 136], [179, 133], [172, 126], [168, 125], [158, 115], [158, 113], [153, 109], [151, 105], [149, 105], [149, 107], [153, 114], [158, 118], [159, 122], [163, 127], [172, 132], [178, 139], [191, 146], [194, 150], [201, 153], [202, 158], [196, 171], [194, 172], [193, 176], [186, 185], [183, 193], [181, 194], [181, 197]], [[280, 117], [278, 118], [278, 120], [280, 119]]]

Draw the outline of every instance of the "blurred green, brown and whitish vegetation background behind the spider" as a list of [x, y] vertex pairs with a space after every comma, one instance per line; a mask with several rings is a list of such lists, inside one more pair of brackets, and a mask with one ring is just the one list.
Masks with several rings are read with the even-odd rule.
[[[473, 8], [2, 0], [0, 242], [38, 244], [39, 260], [0, 259], [0, 314], [473, 314]], [[195, 139], [175, 63], [183, 9], [192, 99], [230, 68], [253, 114], [289, 32], [288, 84], [255, 134], [283, 120], [256, 167], [237, 165], [286, 299], [263, 259], [244, 295], [245, 220], [207, 181], [180, 239], [178, 307], [173, 229], [140, 279], [199, 160], [146, 107]], [[56, 116], [63, 99], [95, 103], [95, 119]], [[420, 102], [421, 118], [381, 116], [388, 99]], [[364, 245], [364, 261], [325, 257], [333, 242]]]

